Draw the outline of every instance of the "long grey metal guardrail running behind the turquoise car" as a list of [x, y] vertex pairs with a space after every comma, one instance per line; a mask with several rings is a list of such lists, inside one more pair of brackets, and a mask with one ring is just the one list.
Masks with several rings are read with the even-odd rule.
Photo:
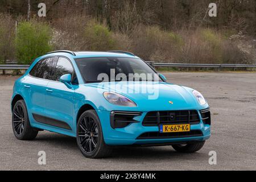
[[[180, 63], [155, 63], [147, 62], [152, 67], [170, 68], [256, 68], [256, 64], [180, 64]], [[30, 65], [3, 64], [0, 69], [28, 69]]]

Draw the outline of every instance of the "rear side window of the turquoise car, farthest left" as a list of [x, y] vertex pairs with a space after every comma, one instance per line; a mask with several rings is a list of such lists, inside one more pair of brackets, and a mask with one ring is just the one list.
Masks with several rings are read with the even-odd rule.
[[30, 75], [38, 78], [51, 80], [52, 69], [56, 63], [56, 57], [48, 57], [40, 60], [34, 68], [32, 68]]

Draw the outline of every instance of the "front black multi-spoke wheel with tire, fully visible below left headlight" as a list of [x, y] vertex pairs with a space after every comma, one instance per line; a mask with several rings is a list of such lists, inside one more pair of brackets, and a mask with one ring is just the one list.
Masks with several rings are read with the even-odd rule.
[[106, 158], [112, 152], [112, 147], [104, 142], [100, 119], [94, 110], [85, 111], [80, 116], [77, 122], [76, 140], [86, 158]]

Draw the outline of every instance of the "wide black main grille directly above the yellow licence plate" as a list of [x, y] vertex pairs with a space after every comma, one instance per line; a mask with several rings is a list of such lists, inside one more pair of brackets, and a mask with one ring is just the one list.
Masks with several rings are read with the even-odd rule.
[[191, 124], [200, 123], [196, 110], [152, 111], [143, 119], [143, 126], [159, 126], [161, 124]]

